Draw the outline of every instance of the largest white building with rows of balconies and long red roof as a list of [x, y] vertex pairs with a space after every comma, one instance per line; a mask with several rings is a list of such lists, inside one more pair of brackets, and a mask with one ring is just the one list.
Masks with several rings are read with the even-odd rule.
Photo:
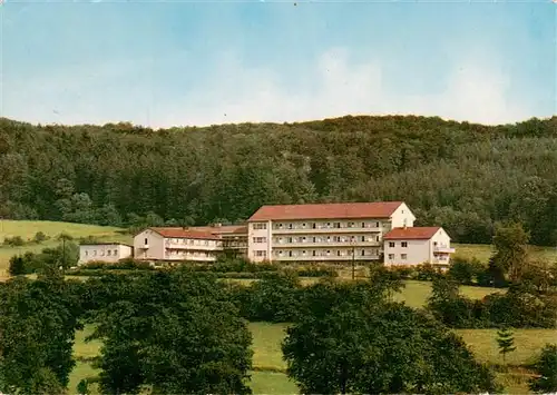
[[378, 260], [383, 235], [412, 226], [402, 201], [263, 206], [248, 219], [254, 261]]

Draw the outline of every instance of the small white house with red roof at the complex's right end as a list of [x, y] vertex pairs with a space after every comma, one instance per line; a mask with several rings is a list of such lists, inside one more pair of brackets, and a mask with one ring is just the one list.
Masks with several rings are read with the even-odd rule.
[[384, 235], [383, 243], [387, 266], [431, 264], [443, 268], [455, 253], [451, 238], [441, 227], [394, 228]]

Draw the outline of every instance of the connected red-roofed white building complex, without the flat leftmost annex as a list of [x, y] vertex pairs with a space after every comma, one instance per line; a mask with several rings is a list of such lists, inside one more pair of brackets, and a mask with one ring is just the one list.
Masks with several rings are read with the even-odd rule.
[[134, 249], [136, 259], [168, 261], [214, 261], [235, 250], [252, 261], [448, 264], [447, 233], [414, 220], [403, 201], [263, 206], [247, 226], [147, 228]]

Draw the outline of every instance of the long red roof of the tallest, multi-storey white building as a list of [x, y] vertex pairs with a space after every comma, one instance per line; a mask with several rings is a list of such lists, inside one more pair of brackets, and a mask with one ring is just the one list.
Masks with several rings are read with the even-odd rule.
[[313, 218], [389, 218], [400, 205], [402, 205], [402, 201], [263, 206], [252, 215], [248, 221]]

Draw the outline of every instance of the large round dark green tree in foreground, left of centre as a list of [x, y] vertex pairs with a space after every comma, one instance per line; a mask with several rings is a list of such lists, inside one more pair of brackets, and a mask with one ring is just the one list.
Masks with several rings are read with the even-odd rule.
[[251, 393], [252, 337], [215, 277], [177, 270], [97, 285], [119, 294], [101, 298], [94, 318], [104, 394]]

